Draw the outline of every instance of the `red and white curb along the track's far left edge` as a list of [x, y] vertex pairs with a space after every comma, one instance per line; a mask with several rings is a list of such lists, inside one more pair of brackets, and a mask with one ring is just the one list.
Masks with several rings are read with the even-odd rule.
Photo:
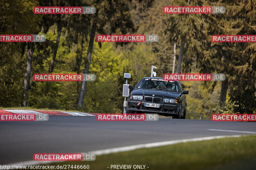
[[0, 110], [0, 114], [60, 115], [60, 116], [96, 116], [97, 113], [69, 112], [69, 111], [34, 111], [34, 110]]

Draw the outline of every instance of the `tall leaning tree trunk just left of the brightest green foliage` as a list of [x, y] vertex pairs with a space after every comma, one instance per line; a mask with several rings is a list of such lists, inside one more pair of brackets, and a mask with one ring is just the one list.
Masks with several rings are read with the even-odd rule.
[[[88, 74], [89, 72], [89, 67], [91, 63], [91, 58], [92, 58], [92, 48], [93, 48], [93, 42], [94, 42], [94, 37], [95, 37], [95, 31], [96, 31], [96, 22], [92, 24], [92, 32], [90, 34], [90, 42], [89, 42], [89, 47], [87, 51], [87, 64], [85, 64], [84, 67], [84, 74]], [[85, 92], [85, 87], [86, 87], [86, 81], [82, 81], [81, 84], [81, 89], [80, 89], [80, 94], [79, 94], [79, 99], [78, 99], [78, 107], [81, 109], [83, 102], [84, 102], [84, 92]]]

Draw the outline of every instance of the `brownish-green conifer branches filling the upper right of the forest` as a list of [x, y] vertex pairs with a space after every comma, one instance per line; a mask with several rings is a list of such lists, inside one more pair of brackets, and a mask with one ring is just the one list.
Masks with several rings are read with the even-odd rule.
[[[186, 42], [183, 72], [198, 70], [200, 73], [224, 73], [228, 79], [230, 102], [237, 101], [239, 105], [235, 107], [234, 112], [255, 113], [255, 43], [211, 42], [212, 35], [255, 35], [254, 0], [234, 3], [219, 0], [178, 2], [179, 6], [216, 4], [226, 7], [225, 14], [166, 15], [163, 19], [165, 32], [170, 32], [170, 40], [174, 42], [176, 38], [178, 45], [181, 41]], [[193, 66], [196, 66], [196, 69]]]

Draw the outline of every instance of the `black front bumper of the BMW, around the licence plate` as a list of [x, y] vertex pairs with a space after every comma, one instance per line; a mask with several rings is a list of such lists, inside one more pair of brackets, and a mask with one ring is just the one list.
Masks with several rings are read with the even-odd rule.
[[[138, 103], [141, 103], [139, 106]], [[132, 110], [135, 112], [153, 112], [153, 113], [163, 113], [170, 115], [178, 115], [180, 110], [179, 103], [156, 103], [159, 104], [159, 108], [154, 107], [145, 107], [144, 103], [154, 103], [154, 102], [145, 102], [145, 101], [135, 101], [128, 100], [127, 101], [127, 110]]]

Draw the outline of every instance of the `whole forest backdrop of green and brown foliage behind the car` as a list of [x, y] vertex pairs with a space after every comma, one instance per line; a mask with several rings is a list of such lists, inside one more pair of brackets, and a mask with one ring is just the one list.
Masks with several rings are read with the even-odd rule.
[[[225, 6], [225, 14], [164, 14], [163, 6]], [[35, 15], [33, 6], [95, 6], [94, 15]], [[147, 7], [145, 10], [144, 7]], [[182, 82], [187, 95], [187, 117], [209, 119], [212, 113], [256, 113], [256, 44], [212, 43], [211, 35], [255, 35], [254, 0], [230, 1], [42, 1], [4, 0], [0, 2], [1, 34], [46, 35], [35, 43], [28, 105], [37, 108], [76, 109], [81, 82], [36, 82], [32, 75], [48, 73], [58, 30], [62, 30], [53, 73], [83, 73], [87, 63], [91, 25], [96, 35], [157, 34], [157, 43], [94, 43], [89, 73], [97, 79], [87, 82], [83, 111], [120, 113], [123, 110], [124, 72], [128, 83], [150, 76], [171, 73], [169, 54], [177, 42], [185, 41], [183, 73], [224, 73], [228, 77], [228, 97], [219, 107], [220, 82]], [[24, 92], [27, 43], [0, 43], [0, 103], [19, 107]], [[178, 59], [178, 58], [177, 58]], [[177, 60], [176, 60], [177, 63]]]

